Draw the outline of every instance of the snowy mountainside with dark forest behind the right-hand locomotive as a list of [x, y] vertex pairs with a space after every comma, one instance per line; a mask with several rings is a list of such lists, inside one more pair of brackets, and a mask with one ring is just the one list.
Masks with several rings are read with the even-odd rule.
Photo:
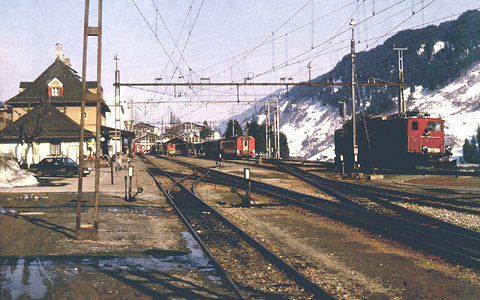
[[[445, 122], [446, 144], [454, 157], [462, 156], [465, 138], [470, 139], [480, 125], [480, 11], [467, 11], [457, 20], [438, 26], [401, 31], [367, 52], [357, 53], [358, 81], [388, 74], [384, 80], [395, 82], [398, 76], [394, 43], [408, 47], [405, 55], [404, 97], [407, 110], [419, 110]], [[312, 80], [343, 82], [349, 76], [348, 55], [327, 74]], [[393, 87], [363, 87], [359, 95], [359, 113], [391, 114], [398, 111], [398, 90]], [[349, 98], [345, 87], [294, 87], [287, 97], [278, 93], [282, 110], [280, 129], [288, 140], [291, 156], [308, 159], [334, 158], [334, 132], [340, 128], [339, 100]], [[267, 97], [268, 98], [268, 97]], [[347, 118], [351, 118], [347, 103]], [[256, 116], [262, 122], [264, 109], [244, 112], [239, 120]]]

